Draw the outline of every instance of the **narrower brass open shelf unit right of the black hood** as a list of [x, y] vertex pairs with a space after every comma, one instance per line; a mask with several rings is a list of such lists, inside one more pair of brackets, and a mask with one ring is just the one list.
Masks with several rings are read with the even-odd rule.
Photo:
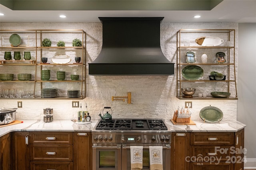
[[[193, 43], [192, 46], [182, 46], [187, 40], [187, 37], [194, 37], [195, 39], [198, 37], [202, 37], [202, 36], [214, 36], [214, 35], [220, 35], [225, 37], [225, 41], [229, 41], [230, 45], [228, 46], [224, 46], [224, 45], [219, 45], [219, 46], [213, 46], [213, 45], [208, 45], [208, 46], [200, 46], [197, 45], [194, 42], [193, 39]], [[177, 71], [177, 75], [176, 75], [176, 98], [180, 99], [180, 100], [237, 100], [237, 86], [236, 86], [236, 66], [235, 66], [235, 29], [180, 29], [179, 31], [177, 31], [176, 34], [176, 38], [177, 38], [177, 43], [176, 43], [176, 71]], [[192, 41], [190, 41], [192, 42]], [[191, 45], [191, 44], [190, 44]], [[184, 50], [190, 51], [190, 50], [195, 50], [198, 53], [204, 53], [204, 51], [208, 50], [208, 53], [210, 53], [210, 55], [214, 55], [212, 53], [214, 53], [214, 49], [224, 49], [227, 52], [227, 59], [225, 63], [186, 63], [186, 61], [184, 61], [184, 58], [182, 58]], [[216, 53], [216, 52], [215, 52]], [[197, 61], [198, 62], [198, 61]], [[182, 68], [184, 68], [184, 66], [188, 66], [188, 65], [202, 65], [202, 66], [207, 66], [208, 68], [210, 66], [212, 66], [212, 68], [216, 68], [216, 66], [223, 66], [220, 69], [225, 69], [226, 70], [226, 80], [206, 80], [206, 76], [204, 76], [204, 80], [185, 80], [182, 76]], [[215, 67], [213, 67], [215, 66]], [[232, 73], [232, 74], [230, 74]], [[209, 74], [210, 75], [210, 74]], [[231, 76], [232, 75], [232, 76]], [[225, 92], [230, 92], [232, 91], [231, 96], [235, 96], [235, 97], [228, 97], [228, 98], [213, 98], [212, 96], [207, 96], [206, 98], [199, 98], [198, 96], [196, 96], [197, 94], [195, 94], [195, 96], [193, 96], [193, 98], [183, 98], [183, 94], [181, 92], [182, 88], [188, 88], [187, 86], [185, 87], [184, 84], [190, 85], [190, 87], [194, 88], [199, 88], [199, 92], [203, 91], [204, 86], [202, 86], [202, 84], [198, 84], [198, 86], [195, 84], [196, 82], [210, 82], [210, 83], [223, 83], [223, 85], [225, 85], [225, 89], [222, 89], [222, 85], [219, 87], [214, 86], [214, 90], [219, 89], [219, 90], [224, 90]], [[232, 84], [231, 84], [232, 83]], [[232, 89], [231, 89], [231, 85], [232, 85]], [[189, 87], [189, 88], [190, 88]], [[234, 87], [234, 89], [233, 89]], [[221, 91], [220, 91], [221, 92]]]

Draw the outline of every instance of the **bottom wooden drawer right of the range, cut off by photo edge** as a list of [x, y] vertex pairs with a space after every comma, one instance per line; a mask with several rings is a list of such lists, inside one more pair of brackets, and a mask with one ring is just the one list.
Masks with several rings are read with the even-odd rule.
[[190, 170], [233, 170], [233, 164], [225, 162], [190, 162]]

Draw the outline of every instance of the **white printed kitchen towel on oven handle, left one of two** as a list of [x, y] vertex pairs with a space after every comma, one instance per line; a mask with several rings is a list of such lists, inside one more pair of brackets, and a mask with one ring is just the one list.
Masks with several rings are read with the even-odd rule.
[[143, 147], [142, 146], [130, 146], [131, 152], [131, 170], [141, 170]]

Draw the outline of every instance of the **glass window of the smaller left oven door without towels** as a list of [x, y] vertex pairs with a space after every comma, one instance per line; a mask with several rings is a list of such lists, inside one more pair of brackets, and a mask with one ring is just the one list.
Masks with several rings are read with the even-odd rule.
[[100, 168], [115, 168], [115, 151], [100, 151]]

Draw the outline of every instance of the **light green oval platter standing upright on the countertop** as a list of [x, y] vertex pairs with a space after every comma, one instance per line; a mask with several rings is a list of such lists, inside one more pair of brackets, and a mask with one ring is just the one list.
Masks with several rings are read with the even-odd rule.
[[209, 123], [216, 123], [222, 120], [223, 113], [218, 107], [207, 106], [200, 110], [199, 116]]

